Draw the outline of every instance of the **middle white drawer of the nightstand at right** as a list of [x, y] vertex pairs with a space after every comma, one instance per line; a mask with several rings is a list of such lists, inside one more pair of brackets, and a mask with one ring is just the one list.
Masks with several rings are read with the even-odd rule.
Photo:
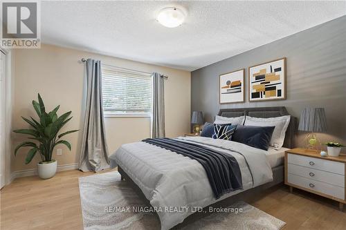
[[333, 184], [343, 188], [345, 187], [345, 175], [311, 169], [296, 164], [287, 164], [287, 172], [293, 175], [300, 175], [311, 180], [318, 180], [320, 182]]

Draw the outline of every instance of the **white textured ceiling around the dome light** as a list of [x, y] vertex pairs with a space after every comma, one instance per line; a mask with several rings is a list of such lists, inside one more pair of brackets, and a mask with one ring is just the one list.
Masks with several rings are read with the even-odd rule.
[[346, 1], [179, 1], [178, 28], [156, 20], [168, 1], [42, 1], [42, 42], [195, 70], [346, 14]]

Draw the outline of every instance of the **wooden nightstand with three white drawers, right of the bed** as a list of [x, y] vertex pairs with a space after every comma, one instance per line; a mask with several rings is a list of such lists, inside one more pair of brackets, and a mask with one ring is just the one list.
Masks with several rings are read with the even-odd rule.
[[345, 155], [321, 157], [320, 151], [293, 148], [284, 154], [284, 183], [291, 192], [294, 187], [336, 200], [343, 211], [345, 164]]

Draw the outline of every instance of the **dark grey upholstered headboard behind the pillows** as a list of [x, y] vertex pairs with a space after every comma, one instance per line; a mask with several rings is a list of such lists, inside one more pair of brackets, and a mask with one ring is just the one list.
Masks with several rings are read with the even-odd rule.
[[[221, 108], [219, 116], [222, 117], [239, 117], [239, 116], [250, 116], [250, 117], [280, 117], [289, 115], [286, 108], [283, 106], [277, 107], [258, 107], [258, 108]], [[296, 133], [297, 118], [291, 116], [289, 127], [287, 128], [286, 135], [284, 137], [284, 147], [294, 148], [294, 140]]]

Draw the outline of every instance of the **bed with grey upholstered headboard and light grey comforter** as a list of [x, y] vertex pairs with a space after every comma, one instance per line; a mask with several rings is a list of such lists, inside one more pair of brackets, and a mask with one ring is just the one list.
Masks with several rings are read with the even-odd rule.
[[[218, 115], [268, 118], [289, 115], [289, 113], [284, 107], [228, 108], [221, 109]], [[283, 148], [275, 151], [264, 151], [237, 142], [213, 140], [208, 137], [179, 137], [184, 142], [194, 142], [229, 153], [239, 163], [243, 189], [224, 194], [219, 199], [212, 197], [206, 171], [199, 162], [145, 142], [121, 146], [116, 154], [110, 157], [111, 167], [118, 166], [122, 178], [125, 178], [138, 194], [154, 207], [161, 220], [161, 229], [171, 229], [176, 224], [181, 225], [183, 222], [184, 225], [201, 215], [206, 215], [194, 213], [196, 208], [229, 205], [247, 195], [252, 196], [254, 193], [282, 183], [283, 154], [287, 148], [293, 148], [295, 120], [295, 117], [291, 116]], [[188, 207], [189, 210], [171, 212], [162, 210], [163, 207]]]

